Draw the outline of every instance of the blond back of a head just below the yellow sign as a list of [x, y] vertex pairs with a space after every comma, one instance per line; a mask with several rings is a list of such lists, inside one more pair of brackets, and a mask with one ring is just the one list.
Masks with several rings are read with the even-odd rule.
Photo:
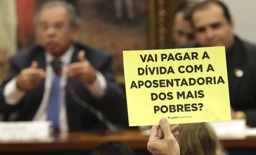
[[226, 155], [215, 131], [207, 122], [180, 124], [178, 131], [181, 155]]

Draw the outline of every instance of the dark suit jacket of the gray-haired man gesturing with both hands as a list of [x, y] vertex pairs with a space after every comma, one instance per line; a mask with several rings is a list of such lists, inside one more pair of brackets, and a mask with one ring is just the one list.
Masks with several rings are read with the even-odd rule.
[[[100, 50], [92, 49], [78, 43], [75, 43], [74, 47], [75, 50], [74, 54], [72, 55], [71, 62], [77, 62], [78, 52], [82, 49], [85, 50], [87, 59], [90, 61], [90, 63], [92, 63], [94, 68], [100, 71], [106, 78], [106, 93], [101, 100], [95, 100], [95, 98], [92, 97], [92, 94], [83, 84], [73, 79], [68, 79], [67, 87], [72, 87], [72, 89], [75, 90], [75, 93], [89, 105], [96, 109], [100, 109], [105, 117], [111, 122], [116, 124], [119, 122], [126, 124], [126, 105], [122, 91], [115, 83], [111, 66], [111, 57]], [[11, 58], [9, 76], [1, 87], [0, 98], [4, 98], [2, 90], [4, 89], [6, 83], [17, 76], [22, 69], [28, 68], [28, 66], [30, 66], [34, 60], [38, 62], [39, 68], [46, 68], [45, 50], [41, 46], [36, 45], [22, 50]], [[43, 98], [43, 92], [45, 89], [44, 85], [45, 81], [41, 82], [35, 89], [26, 92], [22, 100], [20, 100], [17, 105], [12, 107], [12, 109], [14, 109], [14, 111], [17, 113], [17, 117], [15, 117], [16, 121], [31, 121], [33, 119]], [[74, 97], [72, 97], [67, 90], [66, 112], [69, 130], [97, 129], [98, 127], [102, 126], [102, 123], [98, 121], [95, 114], [90, 113], [87, 109], [82, 108], [82, 106], [77, 104]]]

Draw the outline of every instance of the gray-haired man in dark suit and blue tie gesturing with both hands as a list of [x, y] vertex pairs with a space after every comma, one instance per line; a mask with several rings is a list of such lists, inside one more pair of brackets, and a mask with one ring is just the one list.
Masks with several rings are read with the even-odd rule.
[[36, 14], [39, 44], [11, 58], [1, 87], [14, 120], [53, 121], [60, 131], [114, 129], [111, 122], [126, 121], [111, 58], [74, 42], [78, 22], [74, 7], [63, 1], [50, 1]]

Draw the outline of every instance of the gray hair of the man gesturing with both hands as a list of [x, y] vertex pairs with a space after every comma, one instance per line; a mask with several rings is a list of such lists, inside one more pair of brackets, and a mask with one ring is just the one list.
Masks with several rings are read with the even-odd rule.
[[49, 9], [51, 7], [58, 7], [58, 6], [62, 6], [66, 8], [67, 13], [69, 14], [69, 25], [71, 27], [79, 28], [80, 18], [77, 15], [75, 7], [72, 4], [69, 4], [65, 1], [48, 1], [45, 4], [43, 4], [35, 14], [35, 20], [34, 20], [35, 25], [38, 23], [38, 16], [43, 10]]

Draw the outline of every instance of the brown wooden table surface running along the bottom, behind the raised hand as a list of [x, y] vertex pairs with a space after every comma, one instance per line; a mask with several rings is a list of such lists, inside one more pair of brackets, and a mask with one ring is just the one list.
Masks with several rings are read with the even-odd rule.
[[[132, 149], [147, 149], [148, 136], [139, 130], [100, 135], [89, 132], [59, 133], [45, 141], [0, 143], [0, 152], [89, 150], [107, 141], [122, 141]], [[256, 136], [244, 140], [221, 140], [225, 148], [256, 148]]]

